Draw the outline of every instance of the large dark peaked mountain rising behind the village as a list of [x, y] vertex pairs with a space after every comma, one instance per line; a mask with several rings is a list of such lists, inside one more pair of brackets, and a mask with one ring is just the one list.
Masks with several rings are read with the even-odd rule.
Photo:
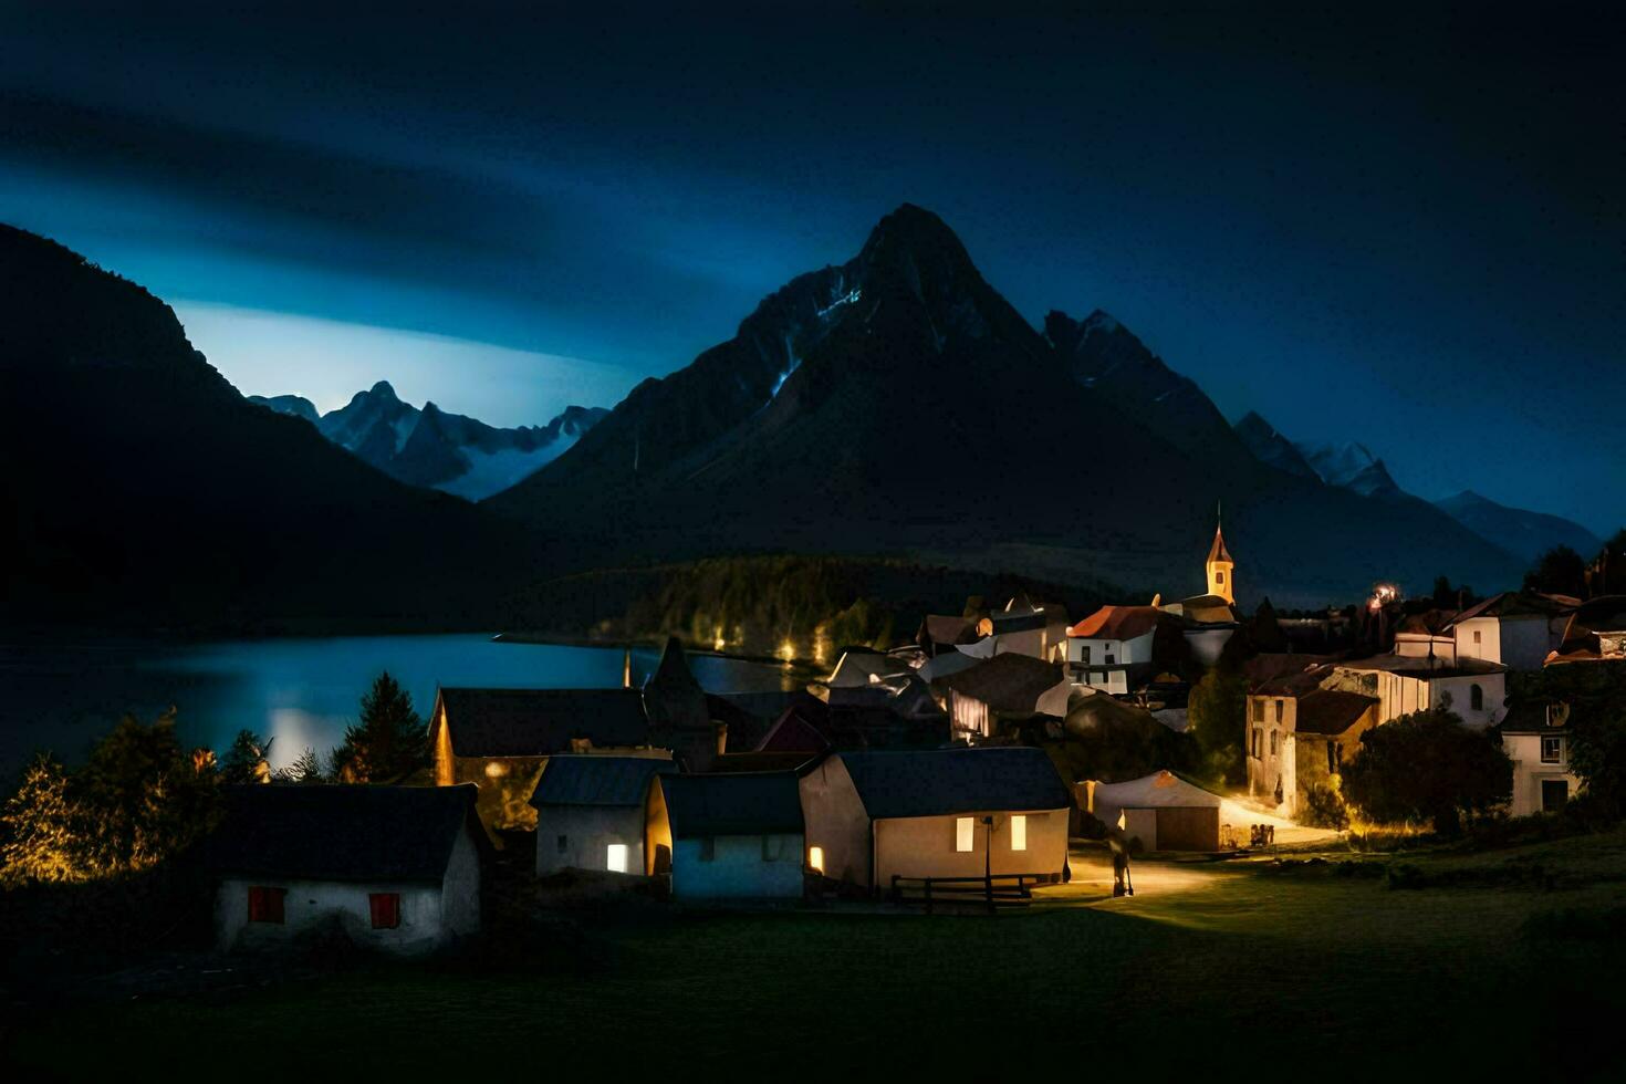
[[792, 280], [735, 338], [641, 384], [488, 504], [548, 522], [558, 567], [911, 553], [1172, 596], [1202, 590], [1223, 501], [1244, 596], [1315, 605], [1379, 579], [1517, 575], [1423, 502], [1374, 512], [1260, 463], [1195, 384], [1106, 314], [1052, 314], [1047, 330], [984, 281], [941, 219], [904, 205], [857, 257]]

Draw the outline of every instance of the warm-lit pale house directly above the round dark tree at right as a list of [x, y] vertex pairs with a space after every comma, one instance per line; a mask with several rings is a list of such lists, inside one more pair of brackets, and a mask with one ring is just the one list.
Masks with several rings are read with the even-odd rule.
[[1480, 658], [1446, 663], [1437, 658], [1372, 655], [1333, 663], [1332, 673], [1320, 684], [1376, 697], [1379, 723], [1446, 707], [1449, 702], [1462, 722], [1485, 730], [1501, 720], [1507, 700], [1507, 668]]

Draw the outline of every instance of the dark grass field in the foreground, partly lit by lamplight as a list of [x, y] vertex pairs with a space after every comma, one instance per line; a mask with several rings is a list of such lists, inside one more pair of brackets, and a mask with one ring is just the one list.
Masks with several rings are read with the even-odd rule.
[[28, 1009], [0, 1076], [1626, 1079], [1626, 834], [1328, 856], [1426, 887], [1148, 861], [1114, 900], [1088, 855], [992, 918], [584, 915], [551, 962]]

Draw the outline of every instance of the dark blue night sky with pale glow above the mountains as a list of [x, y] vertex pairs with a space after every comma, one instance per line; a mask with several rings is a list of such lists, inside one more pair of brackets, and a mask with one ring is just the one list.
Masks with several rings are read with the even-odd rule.
[[907, 200], [1034, 323], [1107, 309], [1229, 418], [1626, 523], [1602, 5], [31, 7], [0, 219], [171, 301], [249, 393], [608, 406]]

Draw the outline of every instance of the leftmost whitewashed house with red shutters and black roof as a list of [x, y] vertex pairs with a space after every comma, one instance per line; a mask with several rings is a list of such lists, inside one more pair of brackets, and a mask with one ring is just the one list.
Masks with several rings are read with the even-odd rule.
[[480, 933], [473, 787], [229, 787], [203, 845], [221, 951], [341, 931], [413, 956]]

